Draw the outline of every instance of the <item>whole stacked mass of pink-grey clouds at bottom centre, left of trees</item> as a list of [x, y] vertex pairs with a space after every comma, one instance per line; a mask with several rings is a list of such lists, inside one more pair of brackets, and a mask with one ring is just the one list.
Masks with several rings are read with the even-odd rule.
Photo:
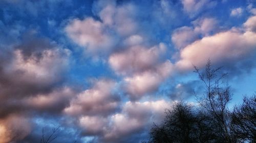
[[135, 135], [160, 122], [164, 109], [170, 103], [164, 100], [131, 102], [119, 105], [115, 95], [115, 82], [96, 80], [90, 89], [81, 91], [63, 112], [74, 118], [84, 136], [94, 136], [98, 141], [119, 142], [123, 136]]

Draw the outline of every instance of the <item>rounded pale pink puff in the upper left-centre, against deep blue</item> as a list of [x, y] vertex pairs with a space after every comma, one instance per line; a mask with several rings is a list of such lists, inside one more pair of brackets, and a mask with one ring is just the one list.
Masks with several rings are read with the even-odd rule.
[[115, 44], [103, 23], [92, 17], [83, 20], [74, 19], [65, 30], [72, 40], [86, 47], [89, 53], [108, 52]]

